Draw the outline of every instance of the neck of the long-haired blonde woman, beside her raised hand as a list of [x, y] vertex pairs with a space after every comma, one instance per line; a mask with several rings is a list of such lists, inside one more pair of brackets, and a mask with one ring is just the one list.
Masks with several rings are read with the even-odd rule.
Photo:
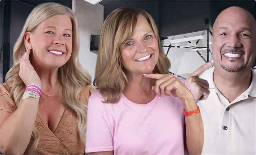
[[44, 68], [33, 62], [32, 65], [41, 80], [42, 91], [53, 94], [58, 89], [58, 68]]

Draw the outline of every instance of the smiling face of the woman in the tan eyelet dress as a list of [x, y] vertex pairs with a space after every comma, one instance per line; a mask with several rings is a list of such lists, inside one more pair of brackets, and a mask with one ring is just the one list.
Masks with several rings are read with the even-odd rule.
[[26, 32], [27, 47], [32, 46], [33, 62], [40, 66], [63, 66], [72, 53], [72, 23], [68, 16], [55, 15]]

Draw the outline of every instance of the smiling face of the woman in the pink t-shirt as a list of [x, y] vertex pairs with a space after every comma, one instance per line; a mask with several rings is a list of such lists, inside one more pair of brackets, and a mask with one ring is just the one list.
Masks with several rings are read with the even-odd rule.
[[134, 32], [120, 47], [126, 71], [132, 74], [152, 73], [159, 55], [158, 41], [149, 22], [139, 15]]

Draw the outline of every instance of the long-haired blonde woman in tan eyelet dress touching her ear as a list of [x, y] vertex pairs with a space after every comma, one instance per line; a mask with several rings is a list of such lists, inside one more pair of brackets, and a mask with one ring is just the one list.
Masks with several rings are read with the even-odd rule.
[[78, 50], [71, 9], [57, 3], [34, 8], [1, 85], [3, 154], [84, 154], [87, 102], [95, 90]]

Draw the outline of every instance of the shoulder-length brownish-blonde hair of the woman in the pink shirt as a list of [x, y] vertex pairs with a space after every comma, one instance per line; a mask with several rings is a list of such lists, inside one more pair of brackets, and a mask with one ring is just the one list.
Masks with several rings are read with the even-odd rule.
[[171, 64], [162, 52], [157, 27], [150, 14], [135, 7], [118, 8], [108, 15], [100, 34], [95, 83], [105, 102], [118, 102], [128, 82], [123, 71], [120, 46], [132, 36], [139, 15], [147, 19], [158, 41], [159, 58], [153, 73], [168, 74]]

